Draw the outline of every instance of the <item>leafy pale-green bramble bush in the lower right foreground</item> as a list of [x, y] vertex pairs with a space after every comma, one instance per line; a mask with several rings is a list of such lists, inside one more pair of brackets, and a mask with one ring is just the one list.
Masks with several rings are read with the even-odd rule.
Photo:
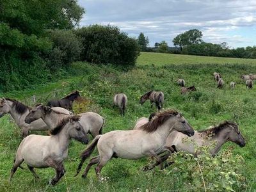
[[234, 156], [232, 147], [228, 147], [217, 156], [212, 157], [209, 148], [212, 148], [213, 145], [215, 143], [204, 147], [195, 145], [196, 151], [200, 151], [196, 157], [186, 152], [172, 154], [168, 161], [174, 163], [168, 168], [168, 174], [179, 177], [189, 191], [246, 189], [246, 177], [241, 174], [243, 157]]

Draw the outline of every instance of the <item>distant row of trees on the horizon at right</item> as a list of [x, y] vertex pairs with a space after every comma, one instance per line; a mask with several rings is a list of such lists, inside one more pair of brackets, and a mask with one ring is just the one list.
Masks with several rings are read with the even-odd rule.
[[[221, 44], [207, 43], [202, 40], [202, 31], [191, 29], [180, 33], [173, 38], [172, 42], [175, 47], [169, 47], [166, 41], [156, 42], [154, 47], [148, 47], [149, 40], [143, 33], [138, 37], [138, 44], [141, 51], [148, 52], [169, 52], [176, 54], [191, 54], [199, 56], [218, 56], [230, 58], [256, 58], [256, 46], [237, 47], [231, 49], [227, 42]], [[142, 43], [141, 43], [142, 42]], [[147, 46], [145, 46], [145, 44]], [[143, 45], [143, 46], [142, 46]]]

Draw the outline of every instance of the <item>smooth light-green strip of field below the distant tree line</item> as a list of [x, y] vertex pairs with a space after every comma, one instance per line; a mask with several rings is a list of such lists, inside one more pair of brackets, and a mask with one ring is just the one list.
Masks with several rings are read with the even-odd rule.
[[219, 58], [207, 56], [193, 56], [185, 54], [169, 54], [157, 52], [141, 52], [137, 63], [139, 65], [167, 65], [167, 64], [256, 64], [253, 59]]

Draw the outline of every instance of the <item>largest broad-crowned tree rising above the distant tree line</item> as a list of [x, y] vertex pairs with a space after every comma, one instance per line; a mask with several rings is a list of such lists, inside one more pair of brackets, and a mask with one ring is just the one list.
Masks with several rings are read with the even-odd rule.
[[182, 51], [187, 45], [200, 44], [202, 42], [202, 36], [202, 32], [198, 29], [191, 29], [175, 36], [172, 42], [175, 46], [179, 45], [180, 51]]

